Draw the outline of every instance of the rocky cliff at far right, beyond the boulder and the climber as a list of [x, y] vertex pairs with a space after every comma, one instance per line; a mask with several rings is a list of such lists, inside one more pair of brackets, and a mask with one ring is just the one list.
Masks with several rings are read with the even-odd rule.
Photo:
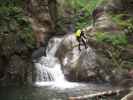
[[[128, 75], [128, 72], [132, 69], [132, 64], [126, 62], [130, 62], [133, 59], [133, 56], [131, 56], [131, 52], [133, 51], [132, 46], [120, 46], [120, 48], [119, 46], [113, 47], [108, 43], [106, 44], [106, 42], [96, 42], [95, 37], [97, 32], [105, 32], [105, 34], [110, 37], [113, 35], [127, 35], [123, 29], [118, 26], [118, 23], [121, 23], [120, 20], [116, 24], [115, 21], [112, 21], [111, 14], [114, 14], [113, 18], [119, 16], [119, 14], [125, 14], [125, 12], [127, 16], [132, 16], [132, 7], [132, 0], [110, 0], [104, 5], [97, 7], [97, 11], [94, 13], [95, 16], [98, 17], [94, 18], [94, 26], [88, 27], [88, 31], [86, 29], [89, 38], [89, 45], [96, 50], [97, 63], [99, 64], [97, 69], [99, 73], [98, 76], [103, 80], [115, 81], [118, 82], [118, 84], [123, 84], [125, 81], [127, 85], [132, 82], [126, 82], [126, 78], [131, 78], [130, 75]], [[99, 9], [102, 9], [102, 11]], [[130, 43], [129, 39], [128, 43], [132, 45], [132, 42]], [[119, 81], [121, 81], [121, 83], [119, 83]]]

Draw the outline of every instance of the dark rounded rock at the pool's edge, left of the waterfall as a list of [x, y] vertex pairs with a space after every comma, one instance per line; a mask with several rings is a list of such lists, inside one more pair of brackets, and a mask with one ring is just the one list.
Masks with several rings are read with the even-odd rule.
[[20, 83], [24, 84], [27, 82], [31, 83], [31, 68], [32, 64], [30, 63], [30, 61], [28, 62], [28, 60], [24, 60], [18, 55], [13, 55], [10, 58], [8, 67], [5, 70], [5, 79], [3, 81], [8, 81], [8, 83], [6, 83], [7, 85]]

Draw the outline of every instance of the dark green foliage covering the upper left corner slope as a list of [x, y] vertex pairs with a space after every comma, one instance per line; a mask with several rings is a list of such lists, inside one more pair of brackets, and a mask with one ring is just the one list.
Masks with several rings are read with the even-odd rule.
[[33, 47], [35, 40], [30, 23], [20, 6], [20, 0], [2, 0], [0, 4], [0, 33], [14, 33], [28, 47]]

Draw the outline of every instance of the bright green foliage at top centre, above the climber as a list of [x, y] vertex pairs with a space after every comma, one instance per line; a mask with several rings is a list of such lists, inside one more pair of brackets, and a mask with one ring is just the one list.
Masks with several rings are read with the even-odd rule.
[[91, 24], [93, 10], [103, 0], [69, 0], [71, 6], [77, 14], [78, 20], [75, 23], [76, 29], [81, 29]]

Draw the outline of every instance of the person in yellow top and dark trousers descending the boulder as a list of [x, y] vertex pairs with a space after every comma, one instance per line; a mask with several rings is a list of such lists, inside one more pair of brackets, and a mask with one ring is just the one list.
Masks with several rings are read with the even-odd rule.
[[87, 49], [87, 45], [86, 45], [86, 39], [87, 39], [87, 37], [85, 36], [85, 33], [82, 30], [78, 29], [75, 32], [75, 36], [77, 38], [77, 41], [79, 42], [79, 46], [78, 46], [79, 51], [81, 51], [80, 46], [81, 46], [82, 43], [85, 46], [85, 48]]

